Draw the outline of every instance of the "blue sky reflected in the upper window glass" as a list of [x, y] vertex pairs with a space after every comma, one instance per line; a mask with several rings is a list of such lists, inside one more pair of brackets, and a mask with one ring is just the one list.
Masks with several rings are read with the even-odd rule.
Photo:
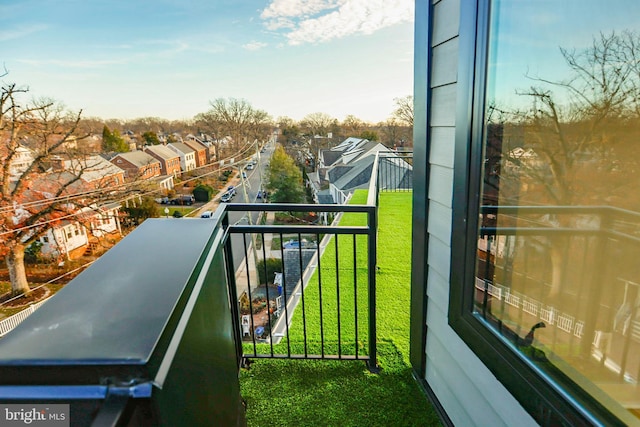
[[640, 34], [639, 13], [637, 0], [496, 0], [492, 3], [489, 99], [502, 108], [530, 107], [531, 97], [518, 93], [535, 86], [551, 90], [556, 102], [568, 104], [562, 88], [535, 79], [571, 81], [576, 74], [560, 49], [580, 54], [601, 34]]

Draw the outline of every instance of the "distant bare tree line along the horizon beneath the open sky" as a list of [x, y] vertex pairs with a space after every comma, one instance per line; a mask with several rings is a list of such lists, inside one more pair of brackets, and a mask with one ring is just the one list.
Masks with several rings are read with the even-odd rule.
[[268, 112], [255, 108], [248, 100], [217, 98], [209, 103], [209, 109], [190, 120], [167, 120], [159, 117], [141, 117], [129, 120], [82, 118], [79, 127], [85, 132], [102, 131], [105, 151], [127, 151], [123, 132], [140, 137], [141, 144], [159, 144], [159, 135], [192, 133], [207, 134], [221, 156], [237, 152], [247, 143], [263, 140], [273, 129], [279, 129], [279, 142], [284, 145], [311, 143], [320, 145], [340, 142], [347, 137], [379, 141], [390, 148], [413, 145], [413, 97], [394, 100], [394, 110], [382, 122], [368, 123], [354, 115], [342, 121], [327, 113], [307, 114], [301, 120], [287, 116], [273, 118]]

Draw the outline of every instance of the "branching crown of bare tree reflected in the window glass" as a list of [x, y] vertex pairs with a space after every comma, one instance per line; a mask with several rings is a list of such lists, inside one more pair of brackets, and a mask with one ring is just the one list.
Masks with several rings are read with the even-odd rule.
[[[561, 48], [571, 72], [567, 79], [531, 77], [536, 85], [519, 92], [531, 98], [526, 111], [492, 106], [495, 119], [491, 120], [521, 133], [502, 149], [503, 177], [509, 178], [510, 172], [526, 176], [540, 185], [541, 193], [535, 196], [540, 201], [570, 205], [601, 191], [584, 179], [585, 168], [593, 162], [635, 162], [629, 158], [634, 156], [620, 150], [626, 147], [623, 138], [629, 125], [640, 117], [637, 44], [637, 36], [625, 32], [600, 34], [592, 46], [580, 51]], [[522, 150], [515, 150], [518, 147], [532, 150], [538, 161], [527, 160]], [[603, 168], [601, 178], [607, 179], [604, 175], [610, 175], [610, 168]]]

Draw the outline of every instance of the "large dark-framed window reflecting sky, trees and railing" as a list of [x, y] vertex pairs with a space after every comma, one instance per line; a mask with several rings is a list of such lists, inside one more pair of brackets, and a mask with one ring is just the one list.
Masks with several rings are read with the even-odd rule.
[[482, 7], [450, 322], [539, 421], [640, 423], [640, 4]]

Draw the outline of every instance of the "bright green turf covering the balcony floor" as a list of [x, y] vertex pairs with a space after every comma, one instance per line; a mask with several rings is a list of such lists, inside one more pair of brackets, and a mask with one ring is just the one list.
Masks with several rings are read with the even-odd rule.
[[[379, 210], [377, 274], [377, 348], [382, 371], [370, 374], [363, 362], [259, 360], [241, 373], [242, 395], [247, 400], [250, 426], [432, 426], [439, 425], [433, 408], [411, 376], [409, 357], [409, 304], [411, 278], [411, 193], [382, 193]], [[351, 203], [363, 204], [366, 192]], [[366, 222], [362, 214], [345, 214], [341, 225]], [[366, 237], [355, 242], [340, 236], [327, 247], [321, 262], [322, 287], [317, 275], [305, 290], [306, 333], [309, 353], [337, 350], [337, 315], [341, 350], [367, 353]], [[337, 254], [337, 255], [336, 255]], [[335, 268], [336, 260], [338, 269]], [[353, 266], [356, 266], [355, 270]], [[354, 286], [354, 282], [356, 286]], [[339, 296], [338, 292], [339, 291]], [[354, 299], [354, 294], [357, 298]], [[322, 295], [323, 323], [320, 328]], [[354, 313], [358, 312], [358, 340]], [[338, 302], [340, 310], [337, 309]], [[275, 346], [276, 353], [303, 350], [300, 310], [292, 322], [290, 341]], [[263, 348], [262, 351], [268, 351]]]

